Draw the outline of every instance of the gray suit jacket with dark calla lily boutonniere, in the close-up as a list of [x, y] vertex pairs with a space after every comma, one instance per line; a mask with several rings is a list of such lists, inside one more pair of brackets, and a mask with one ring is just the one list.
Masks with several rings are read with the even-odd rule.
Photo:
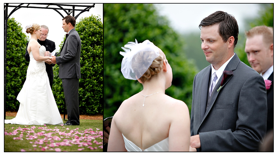
[[211, 65], [193, 81], [191, 136], [199, 134], [200, 151], [256, 151], [266, 134], [267, 98], [262, 76], [235, 56], [217, 82], [206, 111]]

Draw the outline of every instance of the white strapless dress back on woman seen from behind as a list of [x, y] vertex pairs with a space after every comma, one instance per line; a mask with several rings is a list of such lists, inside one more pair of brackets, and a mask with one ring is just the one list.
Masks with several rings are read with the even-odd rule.
[[123, 135], [123, 138], [124, 138], [125, 149], [128, 152], [169, 152], [169, 138], [168, 137], [146, 149], [139, 148], [133, 142], [128, 140], [126, 137], [124, 137], [124, 135]]

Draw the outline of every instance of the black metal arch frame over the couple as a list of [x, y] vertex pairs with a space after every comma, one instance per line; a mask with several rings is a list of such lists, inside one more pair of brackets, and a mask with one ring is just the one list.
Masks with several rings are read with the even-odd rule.
[[[20, 8], [39, 8], [39, 9], [52, 9], [59, 13], [62, 18], [64, 16], [59, 12], [59, 10], [63, 10], [67, 15], [72, 13], [72, 16], [77, 19], [77, 17], [84, 13], [85, 11], [89, 11], [91, 8], [94, 7], [93, 5], [71, 5], [71, 4], [55, 4], [55, 3], [27, 3], [27, 6], [22, 6], [25, 3], [21, 3], [18, 6], [9, 5], [9, 3], [4, 3], [4, 119], [6, 119], [6, 75], [7, 75], [7, 22], [12, 13]], [[46, 5], [46, 7], [31, 7], [30, 4], [40, 4]], [[59, 8], [49, 7], [50, 5], [57, 6]], [[63, 8], [62, 6], [72, 7], [70, 8]], [[14, 9], [8, 15], [8, 7], [14, 7]], [[85, 9], [75, 9], [75, 7], [86, 7]], [[67, 12], [68, 10], [68, 12]], [[75, 11], [81, 11], [78, 15], [74, 16]], [[65, 110], [64, 110], [64, 119], [65, 119]]]

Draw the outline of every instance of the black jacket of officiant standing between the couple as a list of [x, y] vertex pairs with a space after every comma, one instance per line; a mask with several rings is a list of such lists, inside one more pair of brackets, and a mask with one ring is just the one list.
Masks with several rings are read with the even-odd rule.
[[[43, 41], [40, 41], [38, 39], [38, 43], [40, 45], [43, 45], [45, 47], [46, 51], [53, 52], [55, 50], [55, 42], [53, 42], [51, 40], [45, 39], [45, 42], [43, 42]], [[29, 53], [27, 51], [28, 44], [29, 44], [29, 41], [26, 44], [26, 53], [25, 53], [26, 61], [30, 61], [30, 56], [29, 56]], [[47, 73], [47, 76], [49, 78], [49, 81], [53, 81], [53, 69], [52, 69], [52, 67], [54, 67], [55, 64], [47, 64], [47, 63], [44, 63], [44, 64], [45, 64], [45, 67], [46, 67], [46, 73]]]

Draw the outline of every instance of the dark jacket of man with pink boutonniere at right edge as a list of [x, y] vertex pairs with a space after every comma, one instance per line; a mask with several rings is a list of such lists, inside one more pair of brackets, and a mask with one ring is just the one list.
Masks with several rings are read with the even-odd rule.
[[274, 72], [269, 76], [268, 80], [272, 81], [270, 88], [266, 91], [268, 97], [268, 120], [266, 131], [270, 131], [274, 126]]

